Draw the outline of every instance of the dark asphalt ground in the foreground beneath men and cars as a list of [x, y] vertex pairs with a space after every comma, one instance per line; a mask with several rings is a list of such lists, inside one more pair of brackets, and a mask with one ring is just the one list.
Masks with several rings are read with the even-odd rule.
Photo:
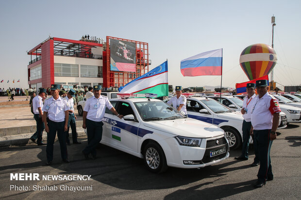
[[[301, 199], [301, 127], [289, 124], [277, 132], [273, 141], [271, 162], [274, 180], [262, 188], [254, 188], [259, 167], [251, 167], [252, 146], [248, 161], [236, 161], [240, 150], [230, 152], [221, 163], [202, 169], [168, 168], [165, 173], [149, 172], [143, 160], [113, 148], [99, 145], [96, 160], [85, 160], [81, 153], [87, 144], [67, 146], [70, 163], [63, 163], [58, 141], [54, 144], [54, 159], [45, 166], [46, 146], [31, 144], [0, 149], [0, 199]], [[38, 173], [40, 180], [10, 180], [11, 173]], [[43, 175], [91, 175], [88, 181], [42, 180]], [[56, 190], [36, 190], [46, 189]], [[72, 191], [72, 186], [82, 191]], [[90, 186], [90, 187], [84, 187]], [[69, 187], [69, 190], [66, 188]]]

